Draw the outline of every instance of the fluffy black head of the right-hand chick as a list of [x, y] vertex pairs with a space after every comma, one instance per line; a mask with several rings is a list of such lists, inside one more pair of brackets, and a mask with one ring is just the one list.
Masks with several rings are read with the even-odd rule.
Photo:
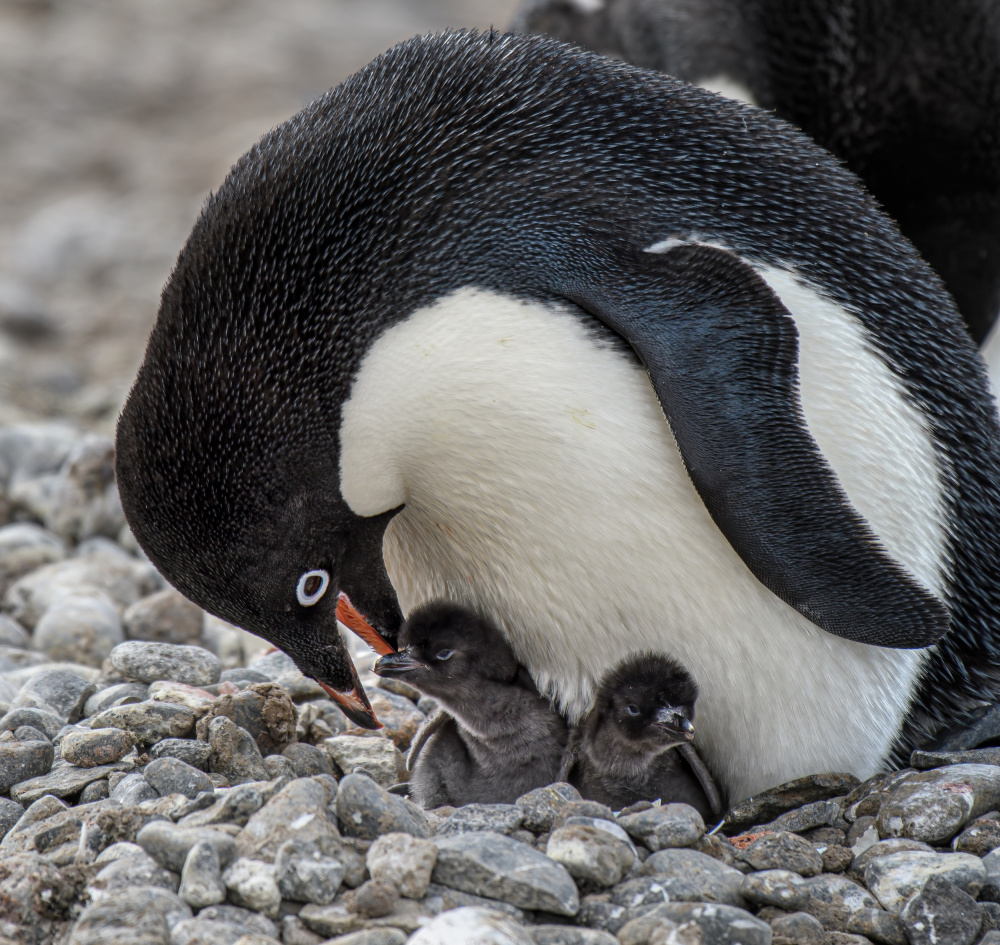
[[639, 749], [663, 750], [694, 738], [698, 686], [676, 660], [639, 653], [601, 680], [588, 722]]

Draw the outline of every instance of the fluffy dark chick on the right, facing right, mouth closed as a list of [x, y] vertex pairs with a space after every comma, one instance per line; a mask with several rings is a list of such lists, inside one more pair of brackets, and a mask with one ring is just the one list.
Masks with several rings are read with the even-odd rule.
[[628, 657], [604, 675], [573, 730], [562, 779], [612, 810], [662, 799], [717, 819], [719, 789], [691, 745], [697, 698], [697, 684], [676, 660]]

